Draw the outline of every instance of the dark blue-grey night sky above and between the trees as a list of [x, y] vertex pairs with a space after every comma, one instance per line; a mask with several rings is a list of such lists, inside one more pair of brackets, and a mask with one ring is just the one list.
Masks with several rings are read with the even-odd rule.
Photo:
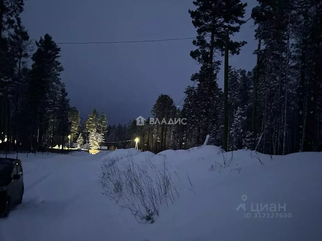
[[[247, 1], [245, 20], [256, 0]], [[192, 0], [27, 0], [22, 20], [33, 40], [45, 33], [55, 42], [132, 41], [196, 36], [188, 9]], [[249, 20], [235, 40], [246, 40], [239, 56], [229, 64], [251, 70], [253, 21]], [[168, 94], [178, 103], [192, 85], [191, 74], [199, 66], [189, 56], [192, 40], [164, 42], [63, 45], [61, 59], [71, 105], [86, 120], [96, 108], [104, 112], [108, 124], [126, 124], [137, 116], [151, 116], [159, 94]], [[223, 71], [219, 74], [223, 87]], [[180, 107], [182, 103], [180, 104]]]

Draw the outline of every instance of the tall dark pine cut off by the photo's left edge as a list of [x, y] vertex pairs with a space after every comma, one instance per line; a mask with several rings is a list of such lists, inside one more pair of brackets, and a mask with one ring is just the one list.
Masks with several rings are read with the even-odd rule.
[[26, 55], [27, 32], [20, 20], [24, 1], [0, 1], [0, 140], [15, 143], [21, 91], [21, 69]]

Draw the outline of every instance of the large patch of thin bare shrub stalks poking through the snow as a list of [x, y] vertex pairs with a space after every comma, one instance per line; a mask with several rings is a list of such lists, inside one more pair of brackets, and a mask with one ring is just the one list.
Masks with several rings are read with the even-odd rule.
[[129, 210], [137, 221], [153, 223], [160, 205], [168, 205], [168, 199], [173, 203], [175, 195], [179, 198], [180, 194], [173, 186], [165, 155], [160, 155], [165, 158], [159, 169], [148, 156], [140, 164], [135, 163], [132, 157], [138, 153], [103, 160], [98, 184], [110, 200]]

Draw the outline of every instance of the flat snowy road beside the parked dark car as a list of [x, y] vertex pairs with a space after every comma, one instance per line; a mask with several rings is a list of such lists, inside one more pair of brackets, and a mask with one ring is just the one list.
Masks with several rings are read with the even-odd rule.
[[0, 240], [118, 240], [126, 235], [127, 230], [117, 230], [128, 226], [130, 231], [131, 225], [112, 218], [118, 210], [102, 209], [110, 203], [97, 185], [99, 163], [94, 157], [84, 152], [19, 157], [24, 199], [8, 218], [0, 219]]

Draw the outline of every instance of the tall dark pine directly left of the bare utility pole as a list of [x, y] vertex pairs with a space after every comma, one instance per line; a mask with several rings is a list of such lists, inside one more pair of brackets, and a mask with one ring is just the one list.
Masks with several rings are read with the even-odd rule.
[[[197, 138], [197, 143], [201, 144], [207, 134], [221, 138], [222, 127], [219, 121], [222, 120], [222, 103], [219, 104], [218, 102], [221, 101], [222, 94], [216, 83], [221, 61], [214, 61], [214, 58], [216, 54], [223, 56], [225, 29], [227, 28], [231, 34], [236, 33], [240, 29], [240, 26], [236, 24], [245, 22], [242, 18], [247, 4], [242, 4], [240, 0], [196, 0], [193, 3], [197, 8], [196, 10], [189, 10], [189, 13], [192, 24], [197, 28], [198, 35], [196, 40], [193, 40], [197, 49], [191, 51], [190, 56], [198, 61], [201, 67], [199, 73], [192, 75], [191, 80], [199, 82], [196, 93], [200, 97], [202, 96], [203, 100], [202, 103], [196, 104], [199, 109], [196, 109], [192, 115], [199, 116], [203, 122], [199, 123], [196, 130], [197, 133], [201, 133]], [[230, 40], [230, 53], [239, 54], [240, 48], [245, 43], [245, 41]], [[202, 115], [200, 116], [200, 114]], [[209, 133], [210, 129], [212, 130], [211, 133]], [[218, 139], [210, 141], [212, 144], [217, 142]]]

